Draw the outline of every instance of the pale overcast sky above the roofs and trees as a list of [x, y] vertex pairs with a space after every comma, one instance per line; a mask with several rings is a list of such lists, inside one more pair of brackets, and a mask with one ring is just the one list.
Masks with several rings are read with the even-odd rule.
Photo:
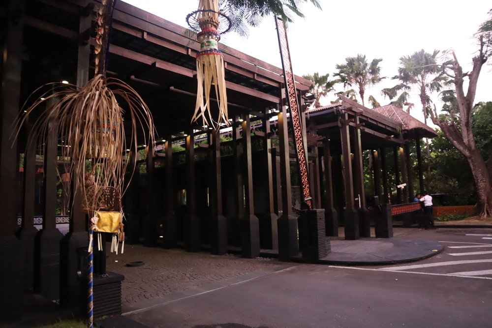
[[[185, 17], [196, 10], [198, 0], [124, 0], [181, 26]], [[309, 1], [308, 1], [309, 2]], [[464, 70], [478, 46], [473, 39], [485, 20], [492, 3], [486, 0], [319, 0], [322, 11], [310, 3], [303, 4], [306, 18], [295, 18], [287, 31], [292, 67], [297, 75], [330, 73], [346, 57], [366, 55], [368, 61], [382, 58], [382, 76], [389, 77], [366, 91], [366, 102], [373, 95], [381, 105], [387, 104], [380, 89], [396, 84], [390, 77], [397, 74], [401, 56], [424, 49], [452, 49]], [[221, 42], [248, 55], [281, 66], [277, 33], [273, 17], [265, 17], [257, 28], [251, 28], [247, 39], [234, 32], [223, 35]], [[492, 100], [492, 60], [482, 69], [475, 102]], [[337, 91], [343, 87], [340, 85]], [[437, 94], [431, 95], [437, 100]], [[333, 100], [333, 99], [330, 99]], [[423, 119], [420, 100], [414, 94], [415, 109], [411, 114]], [[322, 105], [329, 104], [325, 100]]]

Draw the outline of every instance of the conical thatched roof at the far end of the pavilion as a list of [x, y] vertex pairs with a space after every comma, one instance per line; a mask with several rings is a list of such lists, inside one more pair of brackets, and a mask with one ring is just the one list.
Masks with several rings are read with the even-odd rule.
[[426, 124], [407, 114], [400, 107], [395, 105], [386, 105], [372, 108], [373, 111], [382, 114], [390, 119], [400, 122], [403, 126], [403, 135], [406, 139], [410, 138], [434, 138], [437, 133]]

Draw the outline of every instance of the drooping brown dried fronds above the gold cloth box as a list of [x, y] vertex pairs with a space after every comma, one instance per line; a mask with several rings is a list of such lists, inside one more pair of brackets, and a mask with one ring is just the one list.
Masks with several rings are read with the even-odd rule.
[[[78, 185], [86, 187], [82, 188], [84, 203], [92, 213], [99, 209], [98, 197], [103, 192], [101, 188], [113, 187], [120, 197], [123, 195], [127, 186], [124, 184], [125, 172], [128, 165], [133, 165], [133, 168], [129, 168], [131, 172], [135, 167], [135, 162], [129, 162], [126, 149], [137, 151], [137, 130], [142, 130], [146, 144], [154, 144], [151, 112], [129, 85], [103, 75], [95, 76], [83, 88], [58, 83], [43, 87], [50, 87], [50, 90], [41, 96], [36, 91], [31, 95], [37, 100], [30, 104], [28, 99], [27, 104], [30, 105], [19, 119], [19, 126], [22, 126], [28, 115], [42, 107], [42, 103], [52, 100], [53, 105], [46, 107], [35, 120], [29, 142], [38, 139], [39, 145], [44, 145], [48, 129], [57, 131], [58, 137], [64, 141], [61, 155], [70, 158], [64, 164], [64, 170], [72, 172]], [[124, 110], [117, 98], [124, 104], [131, 118], [130, 122], [126, 122], [131, 126], [128, 141], [123, 128]], [[86, 160], [91, 161], [90, 172], [86, 172]], [[92, 192], [86, 193], [89, 187]]]

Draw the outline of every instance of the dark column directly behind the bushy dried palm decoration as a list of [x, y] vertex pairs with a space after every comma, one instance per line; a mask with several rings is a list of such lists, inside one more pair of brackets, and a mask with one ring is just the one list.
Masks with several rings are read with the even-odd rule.
[[[79, 44], [77, 55], [76, 84], [82, 88], [89, 80], [89, 58], [91, 45], [89, 44], [88, 29], [91, 29], [92, 10], [88, 6], [81, 10], [79, 16]], [[70, 175], [70, 221], [68, 233], [60, 242], [60, 305], [63, 308], [82, 308], [80, 286], [81, 280], [77, 272], [80, 268], [80, 259], [85, 256], [84, 247], [88, 244], [86, 215], [82, 210], [82, 186], [78, 184], [78, 177], [84, 172], [68, 172]]]

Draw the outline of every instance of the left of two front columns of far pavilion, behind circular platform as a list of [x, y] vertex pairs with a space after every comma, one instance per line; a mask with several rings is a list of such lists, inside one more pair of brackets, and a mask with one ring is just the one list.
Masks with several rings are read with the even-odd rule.
[[345, 178], [345, 211], [343, 216], [345, 239], [354, 240], [360, 238], [359, 215], [354, 208], [354, 184], [352, 160], [350, 156], [350, 131], [347, 113], [340, 114], [340, 137], [343, 156], [343, 173]]

